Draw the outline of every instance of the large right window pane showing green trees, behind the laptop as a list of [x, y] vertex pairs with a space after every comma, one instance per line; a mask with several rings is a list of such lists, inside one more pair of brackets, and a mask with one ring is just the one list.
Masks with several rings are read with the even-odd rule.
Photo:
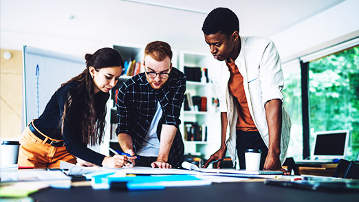
[[359, 153], [359, 46], [311, 61], [308, 68], [309, 148], [313, 148], [316, 131], [349, 129], [347, 159], [356, 159]]

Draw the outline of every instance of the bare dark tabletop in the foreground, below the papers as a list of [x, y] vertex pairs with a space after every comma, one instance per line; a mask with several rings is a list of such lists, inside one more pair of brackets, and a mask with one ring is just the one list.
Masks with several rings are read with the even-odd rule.
[[357, 201], [359, 192], [319, 192], [279, 186], [263, 182], [213, 183], [211, 186], [165, 188], [164, 190], [112, 191], [91, 187], [45, 189], [30, 197], [34, 201]]

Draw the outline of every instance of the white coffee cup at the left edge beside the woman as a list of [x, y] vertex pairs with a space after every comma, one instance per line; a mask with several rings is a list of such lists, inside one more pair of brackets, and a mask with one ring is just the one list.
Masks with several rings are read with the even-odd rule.
[[17, 164], [19, 141], [3, 141], [0, 146], [1, 166]]

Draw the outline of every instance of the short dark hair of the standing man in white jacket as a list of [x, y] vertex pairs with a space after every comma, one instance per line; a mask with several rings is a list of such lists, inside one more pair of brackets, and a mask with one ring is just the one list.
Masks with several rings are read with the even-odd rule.
[[239, 32], [239, 20], [237, 15], [228, 8], [215, 8], [204, 20], [202, 31], [204, 34], [225, 34], [230, 36], [233, 32]]

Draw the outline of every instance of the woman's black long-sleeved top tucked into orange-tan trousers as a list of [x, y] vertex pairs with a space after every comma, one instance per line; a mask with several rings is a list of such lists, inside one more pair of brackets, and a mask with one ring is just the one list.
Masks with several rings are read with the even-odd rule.
[[[64, 122], [63, 135], [61, 135], [61, 119], [65, 102], [69, 96], [69, 91], [77, 88], [79, 84], [80, 82], [74, 81], [59, 88], [47, 103], [43, 114], [34, 120], [34, 126], [48, 137], [63, 139], [66, 150], [70, 154], [100, 166], [105, 155], [96, 153], [94, 150], [87, 148], [86, 144], [83, 144], [81, 120], [83, 113], [86, 112], [83, 110], [85, 100], [81, 93], [74, 96], [71, 110], [67, 113], [67, 118]], [[99, 96], [98, 93], [96, 93], [95, 99]], [[108, 99], [109, 93], [106, 94]]]

